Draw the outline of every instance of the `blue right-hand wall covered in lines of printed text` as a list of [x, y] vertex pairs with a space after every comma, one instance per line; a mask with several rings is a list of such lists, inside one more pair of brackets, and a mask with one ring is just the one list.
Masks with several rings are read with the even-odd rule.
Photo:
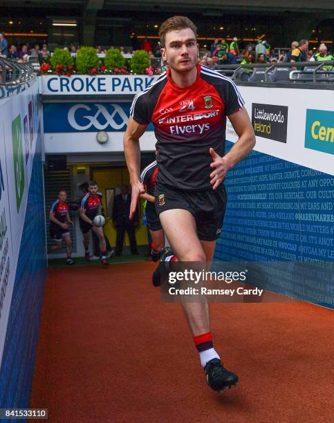
[[267, 288], [334, 308], [334, 177], [252, 151], [225, 185], [228, 207], [215, 261], [266, 262], [270, 270], [274, 262], [286, 263], [286, 270], [289, 262], [284, 283], [275, 273]]

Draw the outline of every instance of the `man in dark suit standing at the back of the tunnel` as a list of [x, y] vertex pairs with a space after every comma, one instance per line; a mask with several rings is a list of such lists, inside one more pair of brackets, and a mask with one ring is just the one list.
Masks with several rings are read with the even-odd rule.
[[129, 234], [131, 253], [138, 254], [135, 229], [138, 226], [138, 212], [132, 220], [129, 219], [131, 195], [127, 185], [122, 185], [122, 194], [115, 196], [113, 202], [113, 225], [117, 229], [116, 256], [122, 254], [124, 234]]

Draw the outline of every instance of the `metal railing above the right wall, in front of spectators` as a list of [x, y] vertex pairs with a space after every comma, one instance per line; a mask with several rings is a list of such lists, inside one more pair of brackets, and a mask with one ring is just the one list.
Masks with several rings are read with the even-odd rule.
[[[254, 72], [257, 72], [258, 69], [264, 69], [264, 72], [260, 71], [259, 73], [263, 74], [263, 79], [259, 77], [259, 79], [254, 80], [254, 82], [275, 82], [272, 78], [273, 73], [277, 72], [275, 69], [279, 69], [279, 71], [283, 71], [284, 68], [288, 71], [290, 68], [301, 68], [300, 71], [296, 71], [292, 69], [288, 75], [288, 78], [279, 79], [277, 82], [328, 82], [334, 83], [334, 71], [322, 69], [324, 66], [333, 66], [334, 67], [334, 60], [324, 61], [324, 62], [277, 62], [275, 64], [266, 63], [266, 64], [236, 64], [236, 65], [214, 65], [210, 66], [210, 68], [219, 71], [227, 76], [230, 76], [236, 82], [247, 82], [248, 79], [242, 79], [242, 75], [245, 73], [249, 73], [249, 77], [254, 75]], [[308, 68], [308, 70], [304, 70], [304, 68]], [[310, 68], [315, 68], [310, 69]], [[251, 71], [250, 71], [251, 69]], [[308, 77], [301, 77], [301, 75], [310, 76]]]

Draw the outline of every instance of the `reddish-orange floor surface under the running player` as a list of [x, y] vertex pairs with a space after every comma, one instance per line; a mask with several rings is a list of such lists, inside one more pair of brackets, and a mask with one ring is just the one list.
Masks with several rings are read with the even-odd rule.
[[333, 311], [213, 304], [216, 349], [240, 378], [219, 395], [154, 266], [49, 269], [31, 407], [59, 423], [333, 422]]

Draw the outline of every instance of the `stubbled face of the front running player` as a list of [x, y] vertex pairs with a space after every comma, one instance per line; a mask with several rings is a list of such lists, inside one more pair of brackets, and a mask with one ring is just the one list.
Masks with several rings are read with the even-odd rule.
[[198, 61], [198, 44], [190, 28], [167, 32], [165, 48], [161, 49], [163, 59], [169, 67], [179, 73], [192, 71]]

